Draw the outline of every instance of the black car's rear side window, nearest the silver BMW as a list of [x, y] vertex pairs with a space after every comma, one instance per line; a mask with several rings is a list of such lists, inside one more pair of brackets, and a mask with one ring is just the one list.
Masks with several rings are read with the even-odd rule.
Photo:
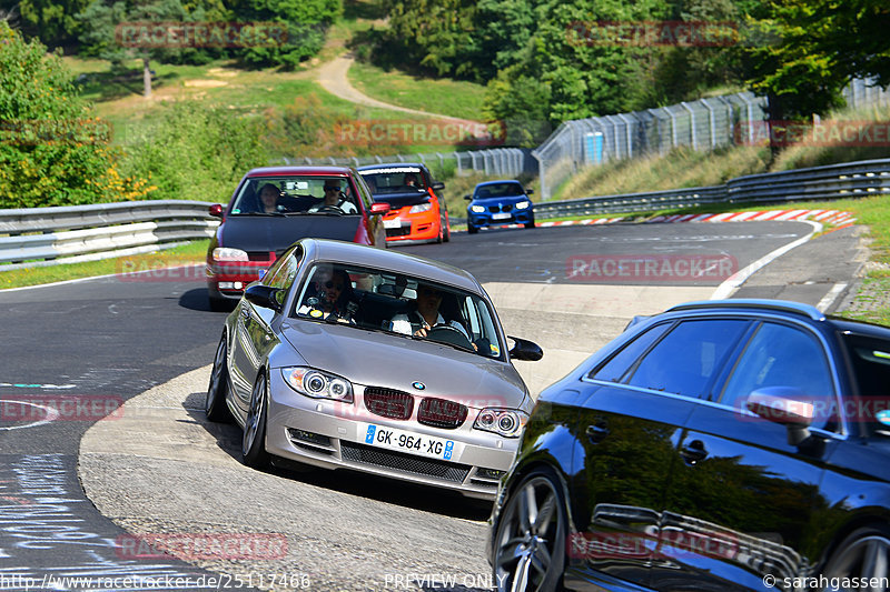
[[643, 358], [629, 384], [704, 399], [748, 325], [744, 320], [682, 322]]

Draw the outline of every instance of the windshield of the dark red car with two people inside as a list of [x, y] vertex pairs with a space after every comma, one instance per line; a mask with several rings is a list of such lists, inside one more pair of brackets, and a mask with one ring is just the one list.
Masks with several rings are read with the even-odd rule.
[[238, 190], [234, 215], [358, 213], [352, 183], [345, 177], [256, 177]]

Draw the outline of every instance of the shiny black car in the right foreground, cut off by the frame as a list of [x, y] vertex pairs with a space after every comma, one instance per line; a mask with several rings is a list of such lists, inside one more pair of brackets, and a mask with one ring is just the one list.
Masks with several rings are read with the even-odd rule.
[[890, 329], [784, 301], [632, 323], [541, 393], [501, 590], [890, 588]]

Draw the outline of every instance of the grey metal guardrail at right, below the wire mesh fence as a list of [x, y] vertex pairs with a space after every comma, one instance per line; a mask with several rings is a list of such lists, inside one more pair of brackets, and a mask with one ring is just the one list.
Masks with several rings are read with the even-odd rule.
[[535, 218], [632, 213], [712, 203], [780, 203], [890, 194], [890, 159], [750, 174], [725, 184], [535, 203]]

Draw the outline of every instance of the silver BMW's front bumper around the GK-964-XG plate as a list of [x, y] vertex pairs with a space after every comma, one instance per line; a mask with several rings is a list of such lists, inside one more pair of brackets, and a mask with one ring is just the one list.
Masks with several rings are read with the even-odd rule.
[[[280, 372], [273, 370], [266, 450], [324, 469], [350, 469], [444, 488], [469, 498], [495, 498], [500, 479], [516, 455], [518, 438], [474, 430], [479, 411], [474, 409], [455, 430], [374, 415], [365, 408], [364, 387], [353, 387], [354, 403], [312, 399], [295, 392]], [[362, 429], [368, 423], [452, 440], [452, 458], [446, 461], [366, 444]]]

